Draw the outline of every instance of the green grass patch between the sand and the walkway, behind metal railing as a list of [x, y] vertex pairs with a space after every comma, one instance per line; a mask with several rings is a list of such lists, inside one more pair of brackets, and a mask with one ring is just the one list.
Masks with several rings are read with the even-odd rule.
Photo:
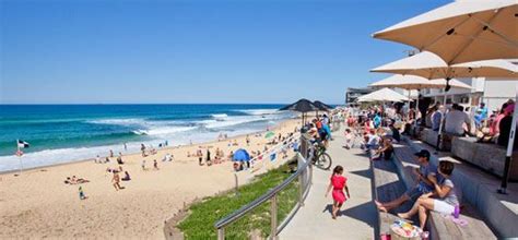
[[[190, 214], [177, 226], [186, 239], [216, 239], [215, 221], [250, 203], [280, 184], [292, 172], [287, 165], [260, 175], [255, 180], [239, 188], [239, 196], [235, 191], [210, 196], [189, 207]], [[278, 195], [278, 223], [280, 224], [298, 199], [298, 181], [293, 181]], [[249, 239], [249, 232], [260, 231], [263, 237], [270, 233], [270, 201], [261, 204], [251, 213], [245, 215], [225, 228], [226, 239]]]

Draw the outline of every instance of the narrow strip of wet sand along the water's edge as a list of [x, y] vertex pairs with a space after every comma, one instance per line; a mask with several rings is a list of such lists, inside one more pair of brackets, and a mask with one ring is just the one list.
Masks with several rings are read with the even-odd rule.
[[[284, 123], [290, 123], [292, 121], [296, 121], [298, 119], [295, 118], [295, 119], [286, 119], [286, 120], [283, 120], [276, 124], [274, 124], [269, 131], [274, 131], [279, 128], [281, 128], [282, 124]], [[244, 137], [246, 135], [251, 135], [251, 134], [258, 134], [258, 133], [264, 133], [267, 132], [267, 130], [263, 130], [263, 131], [255, 131], [255, 132], [250, 132], [250, 133], [244, 133], [244, 134], [238, 134], [238, 135], [235, 135], [235, 136], [232, 136], [232, 137], [228, 137], [224, 141], [229, 141], [229, 140], [237, 140], [237, 139], [240, 139], [240, 137]], [[223, 141], [209, 141], [209, 142], [200, 142], [200, 143], [192, 143], [192, 144], [187, 144], [187, 145], [177, 145], [177, 146], [165, 146], [165, 147], [161, 147], [161, 148], [155, 148], [158, 152], [163, 152], [163, 151], [174, 151], [174, 149], [181, 149], [183, 147], [190, 147], [190, 146], [203, 146], [203, 145], [210, 145], [210, 144], [215, 144], [215, 143], [220, 143], [220, 142], [223, 142]], [[128, 157], [128, 156], [136, 156], [136, 155], [139, 155], [140, 156], [140, 152], [128, 152], [126, 154], [122, 155], [122, 157]], [[150, 155], [152, 156], [152, 155]], [[106, 158], [107, 156], [101, 156], [101, 159], [104, 159]], [[113, 158], [117, 158], [117, 156], [114, 155]], [[94, 161], [95, 158], [87, 158], [87, 159], [71, 159], [67, 163], [56, 163], [56, 164], [49, 164], [49, 165], [45, 165], [45, 166], [37, 166], [37, 167], [30, 167], [30, 168], [24, 168], [23, 171], [22, 171], [22, 175], [23, 172], [25, 171], [36, 171], [36, 170], [45, 170], [45, 168], [54, 168], [54, 167], [60, 167], [60, 166], [68, 166], [68, 165], [74, 165], [74, 164], [82, 164], [82, 163], [87, 163], [87, 161]], [[110, 161], [113, 159], [110, 158]], [[0, 177], [1, 176], [4, 176], [4, 175], [19, 175], [20, 173], [20, 169], [15, 169], [15, 170], [5, 170], [5, 171], [0, 171]]]

